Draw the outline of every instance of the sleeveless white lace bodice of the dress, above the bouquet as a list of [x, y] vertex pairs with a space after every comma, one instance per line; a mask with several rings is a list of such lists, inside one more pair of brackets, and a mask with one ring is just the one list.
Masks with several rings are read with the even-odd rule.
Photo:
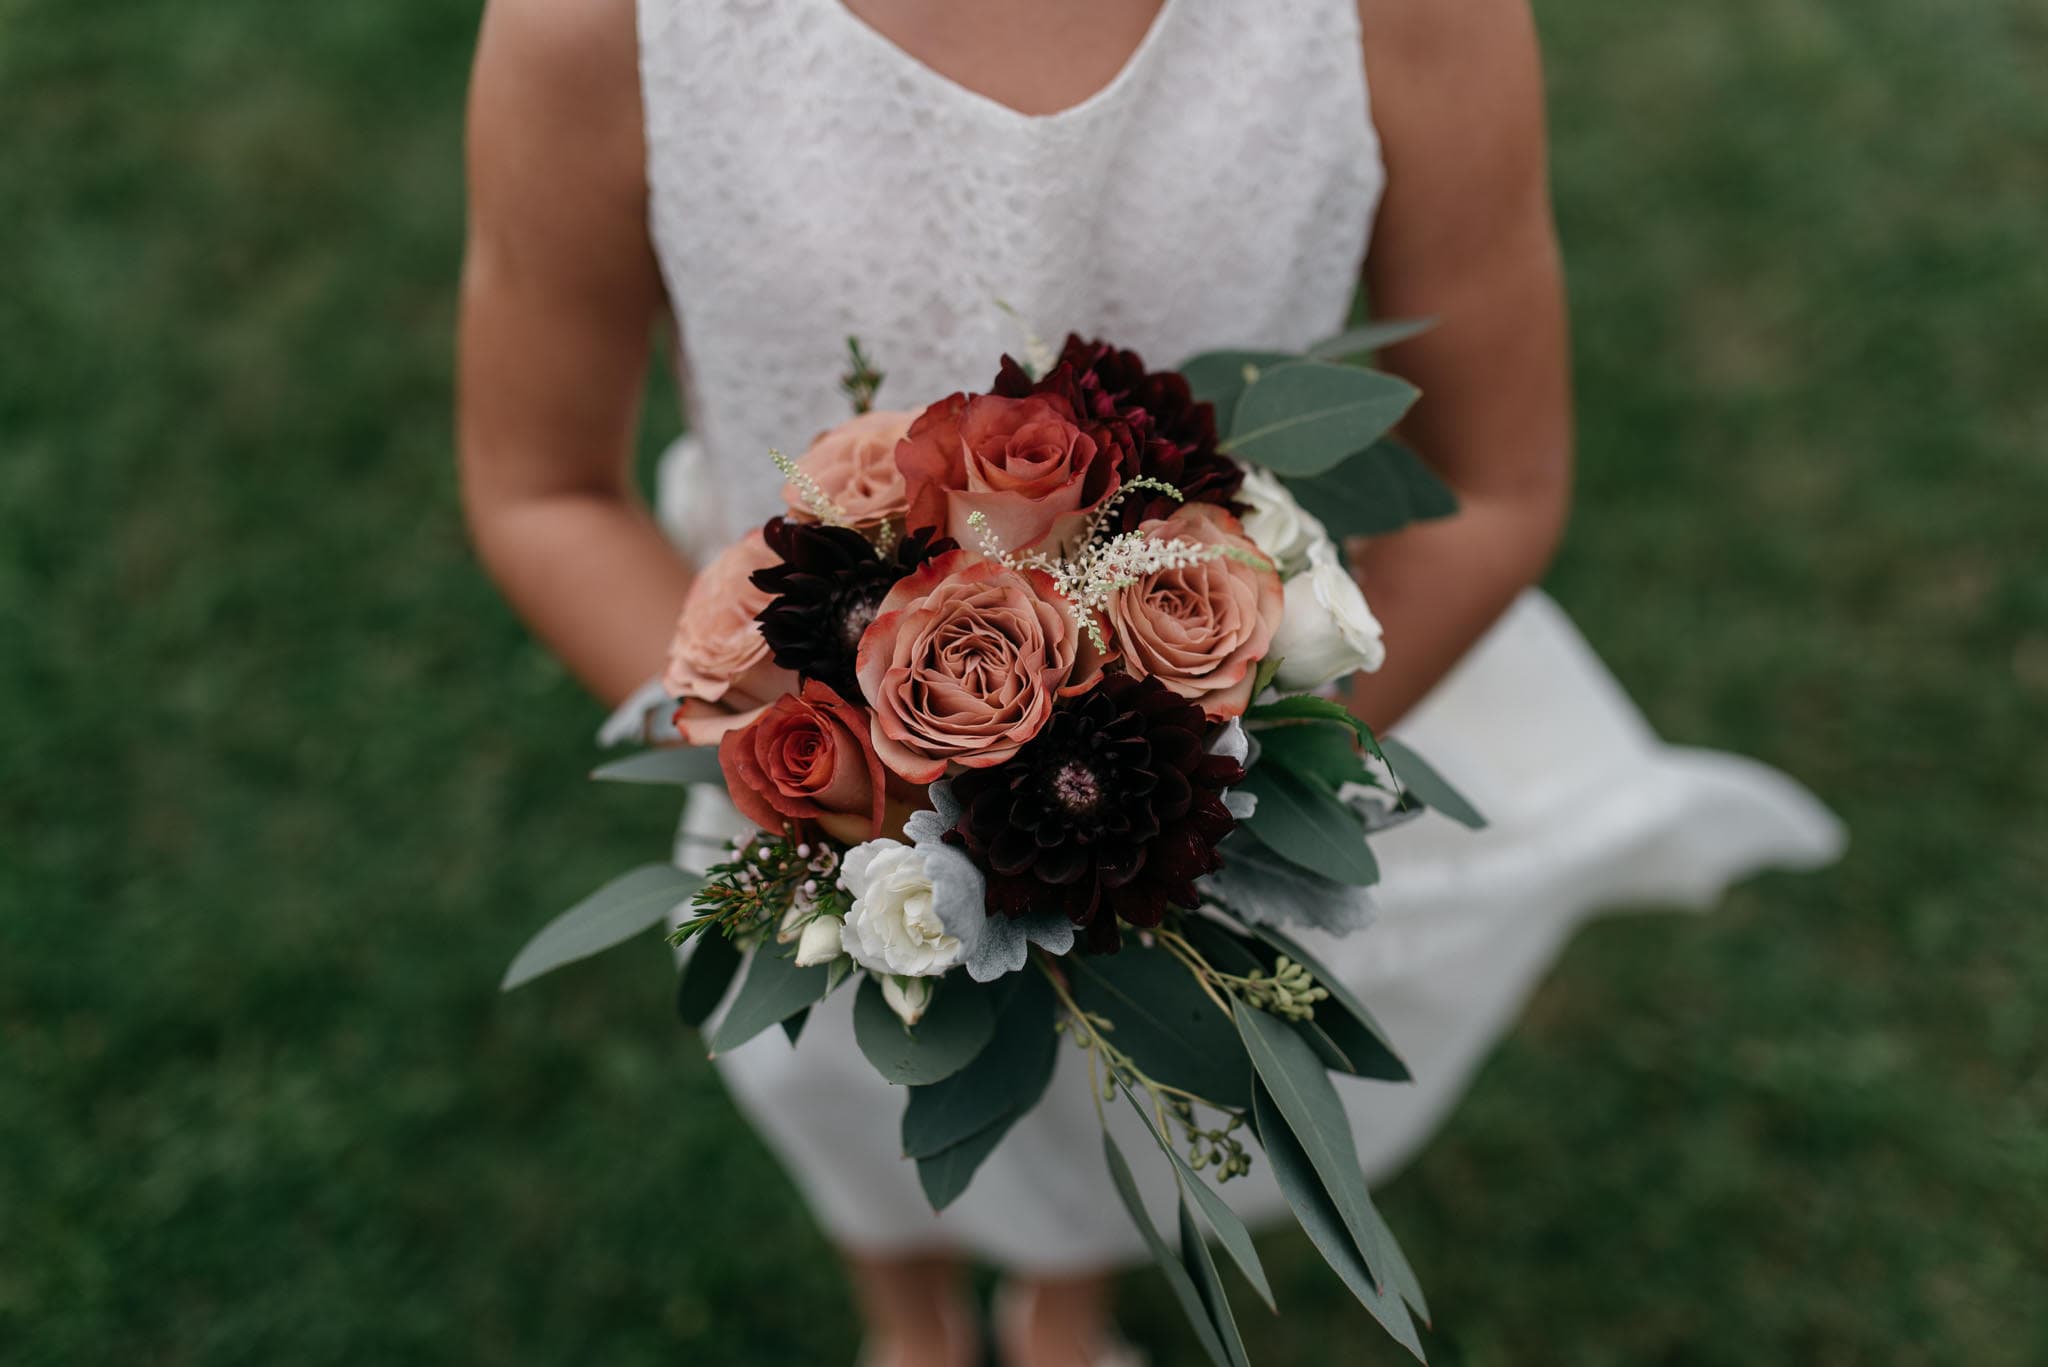
[[879, 404], [915, 408], [1026, 332], [1171, 365], [1343, 324], [1384, 182], [1356, 0], [1165, 0], [1108, 86], [1044, 117], [842, 0], [639, 0], [639, 33], [698, 447], [664, 504], [692, 541], [780, 506], [766, 451], [846, 416], [850, 334]]

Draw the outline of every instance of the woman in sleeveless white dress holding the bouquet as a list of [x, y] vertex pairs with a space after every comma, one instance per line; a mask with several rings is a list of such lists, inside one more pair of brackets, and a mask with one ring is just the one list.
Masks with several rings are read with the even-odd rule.
[[[1839, 844], [1782, 775], [1663, 746], [1530, 588], [1565, 523], [1571, 396], [1524, 0], [492, 0], [461, 318], [471, 529], [618, 703], [659, 672], [692, 560], [780, 506], [766, 451], [844, 416], [848, 334], [887, 375], [881, 406], [915, 408], [981, 387], [1028, 332], [1153, 365], [1300, 348], [1343, 326], [1360, 273], [1376, 314], [1440, 320], [1382, 365], [1423, 389], [1403, 434], [1460, 512], [1354, 547], [1389, 662], [1348, 701], [1493, 818], [1389, 832], [1380, 922], [1317, 945], [1417, 1078], [1348, 1092], [1386, 1174], [1585, 914], [1704, 904]], [[655, 516], [629, 453], [664, 328], [694, 434]], [[733, 822], [692, 799], [684, 855]], [[897, 1152], [901, 1101], [834, 1029], [846, 996], [801, 1049], [770, 1031], [719, 1066], [844, 1250], [868, 1363], [977, 1361], [963, 1256], [1012, 1279], [1004, 1361], [1122, 1361], [1106, 1271], [1141, 1250], [1083, 1074], [934, 1215]], [[1257, 1176], [1229, 1191], [1278, 1211]]]

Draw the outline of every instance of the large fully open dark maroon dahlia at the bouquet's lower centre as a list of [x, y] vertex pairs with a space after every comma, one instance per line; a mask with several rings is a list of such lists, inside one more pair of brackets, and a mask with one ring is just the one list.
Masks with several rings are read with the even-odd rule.
[[1223, 789], [1245, 771], [1208, 754], [1208, 721], [1157, 678], [1110, 674], [1044, 723], [1008, 764], [952, 779], [946, 840], [981, 865], [989, 914], [1061, 910], [1114, 953], [1118, 922], [1157, 926], [1194, 908], [1235, 826]]

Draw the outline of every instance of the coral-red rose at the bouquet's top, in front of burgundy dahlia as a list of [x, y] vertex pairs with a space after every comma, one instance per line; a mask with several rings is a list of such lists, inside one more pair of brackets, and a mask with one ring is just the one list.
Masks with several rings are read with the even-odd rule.
[[1073, 422], [1059, 396], [944, 398], [897, 447], [911, 529], [936, 527], [979, 545], [967, 519], [983, 512], [1010, 551], [1038, 547], [1116, 492], [1116, 453]]

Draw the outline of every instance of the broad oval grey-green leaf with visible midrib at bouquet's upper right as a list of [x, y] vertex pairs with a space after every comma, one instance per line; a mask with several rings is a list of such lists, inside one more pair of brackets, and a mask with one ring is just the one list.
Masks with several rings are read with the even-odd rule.
[[1370, 447], [1415, 404], [1407, 381], [1327, 361], [1260, 371], [1231, 414], [1223, 451], [1276, 475], [1319, 475]]

